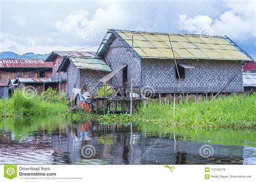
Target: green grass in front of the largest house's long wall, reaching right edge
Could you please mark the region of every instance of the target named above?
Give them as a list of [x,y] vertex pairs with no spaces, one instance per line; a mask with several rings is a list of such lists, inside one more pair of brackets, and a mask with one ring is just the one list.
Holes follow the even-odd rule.
[[230,95],[203,102],[149,103],[132,115],[107,115],[102,122],[147,122],[185,128],[256,128],[256,95]]

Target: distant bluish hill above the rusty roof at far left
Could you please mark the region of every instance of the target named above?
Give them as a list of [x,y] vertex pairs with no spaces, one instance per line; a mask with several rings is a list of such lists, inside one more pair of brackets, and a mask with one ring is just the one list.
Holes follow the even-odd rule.
[[7,51],[7,52],[0,52],[0,59],[43,59],[45,60],[49,56],[49,54],[34,54],[32,52],[27,52],[25,54],[19,55],[19,54],[16,54],[15,52]]

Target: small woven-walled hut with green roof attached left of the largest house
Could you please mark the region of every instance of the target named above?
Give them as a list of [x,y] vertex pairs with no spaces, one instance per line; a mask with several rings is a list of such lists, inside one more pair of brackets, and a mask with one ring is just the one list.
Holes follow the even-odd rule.
[[73,88],[82,89],[95,95],[97,86],[102,84],[99,80],[112,69],[104,59],[95,56],[66,56],[60,64],[57,73],[67,74],[67,97],[70,99]]

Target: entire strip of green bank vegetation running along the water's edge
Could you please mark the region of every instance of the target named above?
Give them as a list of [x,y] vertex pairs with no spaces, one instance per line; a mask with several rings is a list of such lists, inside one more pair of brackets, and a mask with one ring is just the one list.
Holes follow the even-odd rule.
[[230,95],[212,101],[173,104],[147,103],[132,116],[129,114],[85,114],[67,112],[65,95],[51,88],[41,95],[24,96],[22,91],[7,100],[0,101],[3,117],[56,115],[62,118],[98,120],[102,123],[158,123],[169,127],[185,128],[256,128],[256,95]]

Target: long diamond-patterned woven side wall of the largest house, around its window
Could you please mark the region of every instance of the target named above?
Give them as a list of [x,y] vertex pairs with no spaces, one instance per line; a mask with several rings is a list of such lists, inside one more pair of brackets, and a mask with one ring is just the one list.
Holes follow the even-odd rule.
[[[178,63],[195,67],[185,69],[181,82],[176,79],[174,60],[143,59],[144,86],[152,86],[156,92],[219,92],[241,68],[241,61],[179,60]],[[243,92],[242,72],[223,92]]]

